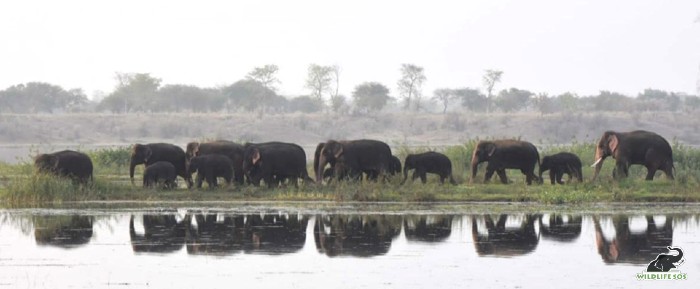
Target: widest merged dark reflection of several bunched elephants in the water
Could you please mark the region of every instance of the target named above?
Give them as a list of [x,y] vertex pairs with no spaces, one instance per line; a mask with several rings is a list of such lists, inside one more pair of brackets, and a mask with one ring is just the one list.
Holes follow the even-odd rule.
[[187,253],[292,253],[304,247],[308,217],[196,214],[187,229]]

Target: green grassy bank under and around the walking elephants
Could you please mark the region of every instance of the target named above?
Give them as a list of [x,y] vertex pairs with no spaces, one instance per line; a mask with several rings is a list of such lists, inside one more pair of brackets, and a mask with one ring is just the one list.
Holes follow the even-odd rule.
[[[596,202],[698,202],[700,201],[700,150],[674,145],[675,181],[666,180],[662,173],[653,182],[644,181],[645,169],[633,166],[630,178],[616,182],[610,177],[614,160],[606,161],[601,177],[591,183],[553,186],[525,185],[520,172],[508,171],[511,183],[483,183],[484,166],[477,178],[469,183],[469,161],[476,140],[450,146],[444,152],[453,163],[457,186],[439,185],[437,178],[429,183],[419,181],[399,185],[402,176],[388,183],[336,183],[329,186],[302,185],[267,189],[250,186],[215,190],[173,191],[143,189],[131,186],[128,180],[128,147],[89,151],[95,165],[95,180],[87,186],[74,185],[69,180],[34,174],[31,163],[0,163],[0,202],[5,207],[34,207],[84,201],[366,201],[366,202],[456,202],[501,201],[538,202],[545,204],[578,204]],[[394,147],[394,153],[403,159],[414,152],[435,148]],[[590,179],[595,147],[593,144],[574,143],[542,149],[541,156],[559,151],[573,152],[584,161],[584,177]],[[142,166],[140,167],[142,169]],[[309,167],[309,171],[312,168]],[[140,173],[137,172],[140,176]],[[546,176],[545,176],[546,179]],[[496,181],[494,179],[493,181]],[[137,180],[139,183],[139,180]]]

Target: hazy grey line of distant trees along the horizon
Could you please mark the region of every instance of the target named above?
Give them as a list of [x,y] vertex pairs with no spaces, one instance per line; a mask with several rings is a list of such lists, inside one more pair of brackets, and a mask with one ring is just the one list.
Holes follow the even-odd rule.
[[613,91],[579,96],[574,93],[549,95],[519,88],[497,90],[503,72],[486,70],[481,87],[438,88],[425,95],[427,81],[423,67],[402,64],[396,83],[396,95],[379,82],[364,82],[354,87],[351,99],[339,93],[341,77],[337,65],[311,64],[308,67],[306,95],[278,94],[279,67],[256,67],[233,84],[202,88],[193,85],[162,85],[149,73],[117,73],[114,91],[89,100],[82,89],[66,90],[43,82],[18,84],[0,90],[0,113],[62,112],[259,112],[312,113],[332,111],[344,114],[375,114],[390,104],[411,111],[446,113],[448,109],[471,112],[520,112],[541,114],[570,111],[697,111],[700,98],[695,95],[658,89],[645,89],[636,96]]

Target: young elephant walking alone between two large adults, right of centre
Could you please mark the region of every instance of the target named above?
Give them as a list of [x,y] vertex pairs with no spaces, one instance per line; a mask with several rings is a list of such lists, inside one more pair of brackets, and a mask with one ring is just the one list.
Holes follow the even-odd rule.
[[450,178],[450,183],[456,185],[452,178],[452,162],[447,156],[438,152],[425,152],[421,154],[410,154],[406,156],[403,167],[403,181],[408,178],[408,170],[415,169],[411,180],[420,177],[421,182],[426,183],[426,173],[440,176],[440,183],[444,184],[446,178]]

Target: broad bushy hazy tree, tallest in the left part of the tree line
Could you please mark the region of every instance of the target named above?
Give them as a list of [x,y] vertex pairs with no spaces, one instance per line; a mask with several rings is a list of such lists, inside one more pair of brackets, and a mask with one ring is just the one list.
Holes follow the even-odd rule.
[[117,73],[117,86],[100,102],[101,109],[113,112],[158,110],[158,88],[161,79],[148,73]]

